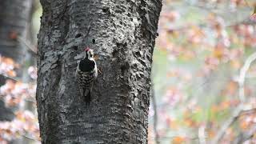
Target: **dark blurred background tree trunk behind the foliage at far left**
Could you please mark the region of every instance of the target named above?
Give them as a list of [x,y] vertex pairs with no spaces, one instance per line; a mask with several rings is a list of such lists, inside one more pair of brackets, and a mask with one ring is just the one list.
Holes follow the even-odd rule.
[[[31,4],[32,0],[0,0],[0,54],[13,58],[20,64],[22,64],[24,49],[18,42],[18,37],[25,36]],[[22,76],[21,71],[18,76]],[[5,81],[6,78],[0,75],[0,86]],[[14,118],[14,114],[10,109],[5,108],[2,101],[0,101],[0,107],[0,120]]]

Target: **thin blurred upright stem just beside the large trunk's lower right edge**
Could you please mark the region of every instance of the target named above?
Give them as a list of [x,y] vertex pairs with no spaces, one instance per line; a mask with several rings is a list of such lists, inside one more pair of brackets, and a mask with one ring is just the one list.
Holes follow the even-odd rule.
[[152,91],[151,91],[151,98],[152,98],[152,104],[153,104],[153,110],[154,110],[154,138],[155,138],[155,143],[159,144],[159,134],[158,134],[158,108],[157,108],[157,102],[154,97],[154,86],[152,86]]

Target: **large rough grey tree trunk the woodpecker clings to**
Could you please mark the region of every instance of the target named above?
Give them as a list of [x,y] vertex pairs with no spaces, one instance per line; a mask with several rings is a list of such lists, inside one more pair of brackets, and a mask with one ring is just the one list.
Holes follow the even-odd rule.
[[[147,143],[150,70],[161,0],[41,0],[42,143]],[[84,47],[102,74],[86,107],[74,78]]]

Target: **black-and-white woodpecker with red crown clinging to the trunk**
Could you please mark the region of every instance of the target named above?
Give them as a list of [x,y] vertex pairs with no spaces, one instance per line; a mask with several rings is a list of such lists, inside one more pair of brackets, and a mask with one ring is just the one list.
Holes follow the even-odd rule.
[[94,60],[94,51],[87,47],[84,50],[84,58],[78,62],[76,78],[79,83],[79,90],[86,104],[90,104],[91,91],[94,80],[98,76],[98,69]]

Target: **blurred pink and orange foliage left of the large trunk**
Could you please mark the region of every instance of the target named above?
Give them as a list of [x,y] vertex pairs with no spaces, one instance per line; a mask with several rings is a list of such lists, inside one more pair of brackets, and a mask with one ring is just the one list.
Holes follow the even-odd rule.
[[35,80],[37,70],[30,66],[27,73],[33,79],[30,83],[24,83],[15,78],[15,70],[20,66],[11,58],[0,56],[0,74],[7,78],[6,83],[0,87],[0,98],[5,102],[6,107],[14,110],[15,118],[8,122],[0,122],[0,143],[5,144],[17,138],[30,138],[38,142],[39,126],[37,115],[34,111],[24,110],[26,102],[35,102]]

